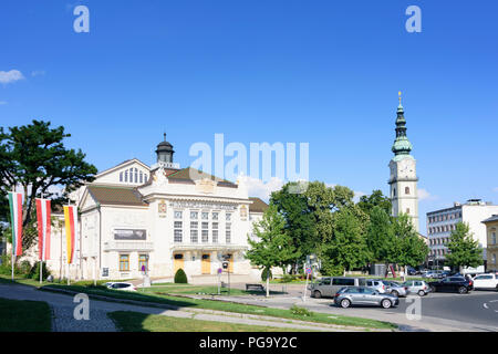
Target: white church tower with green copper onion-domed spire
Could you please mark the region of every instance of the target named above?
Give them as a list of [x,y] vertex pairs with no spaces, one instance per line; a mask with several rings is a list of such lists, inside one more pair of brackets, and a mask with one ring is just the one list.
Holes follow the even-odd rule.
[[396,139],[393,144],[394,157],[390,162],[391,176],[391,201],[393,204],[393,216],[407,214],[412,217],[415,230],[418,232],[418,196],[416,160],[409,155],[412,143],[406,137],[405,112],[401,103],[397,106]]

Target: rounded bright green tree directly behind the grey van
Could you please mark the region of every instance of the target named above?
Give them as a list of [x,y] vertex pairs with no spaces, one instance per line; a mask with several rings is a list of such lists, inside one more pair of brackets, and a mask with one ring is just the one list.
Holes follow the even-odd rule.
[[328,267],[340,266],[351,270],[366,266],[371,258],[361,220],[351,208],[334,214],[334,231],[330,242],[324,246],[322,262]]

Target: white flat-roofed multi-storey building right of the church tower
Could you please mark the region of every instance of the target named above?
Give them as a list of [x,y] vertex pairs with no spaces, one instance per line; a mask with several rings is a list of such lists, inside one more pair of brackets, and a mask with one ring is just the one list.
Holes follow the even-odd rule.
[[458,222],[468,223],[475,240],[483,248],[483,260],[486,260],[487,233],[486,225],[481,221],[498,214],[498,206],[483,202],[478,199],[468,200],[460,205],[455,202],[453,208],[427,212],[427,236],[430,256],[444,260],[448,252],[447,242]]

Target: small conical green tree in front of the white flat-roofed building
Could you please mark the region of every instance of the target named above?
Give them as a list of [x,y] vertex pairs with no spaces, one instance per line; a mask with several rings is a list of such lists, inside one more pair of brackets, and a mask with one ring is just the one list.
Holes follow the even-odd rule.
[[452,231],[448,241],[448,254],[446,260],[453,267],[477,267],[483,264],[483,249],[479,242],[473,238],[467,223],[458,222]]

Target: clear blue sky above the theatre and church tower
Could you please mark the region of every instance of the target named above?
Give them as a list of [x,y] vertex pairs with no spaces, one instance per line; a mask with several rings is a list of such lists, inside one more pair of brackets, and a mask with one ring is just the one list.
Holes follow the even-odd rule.
[[[90,9],[90,33],[73,9]],[[405,9],[422,9],[422,33]],[[0,3],[0,125],[64,125],[98,169],[196,142],[310,144],[310,178],[387,194],[397,92],[425,212],[498,202],[496,1]]]

